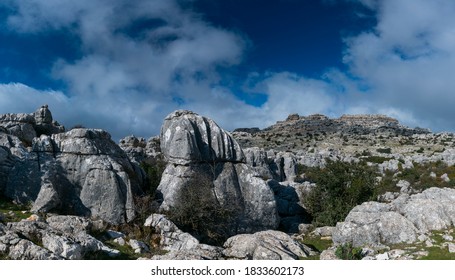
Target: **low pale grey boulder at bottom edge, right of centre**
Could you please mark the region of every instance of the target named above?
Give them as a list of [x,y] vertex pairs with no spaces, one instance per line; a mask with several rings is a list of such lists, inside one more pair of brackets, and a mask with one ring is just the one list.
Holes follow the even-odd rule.
[[229,259],[295,260],[314,252],[281,231],[261,231],[239,234],[224,243],[223,255]]

